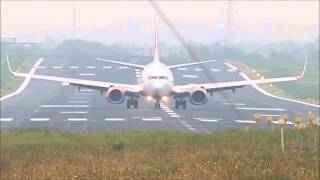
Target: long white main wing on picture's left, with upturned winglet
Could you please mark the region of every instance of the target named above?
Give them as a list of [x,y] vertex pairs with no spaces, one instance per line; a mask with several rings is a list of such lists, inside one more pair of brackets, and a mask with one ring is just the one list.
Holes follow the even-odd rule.
[[61,83],[74,85],[74,86],[78,86],[78,87],[87,87],[87,88],[100,89],[100,90],[107,90],[111,86],[117,86],[117,87],[123,88],[125,91],[128,91],[128,92],[132,92],[132,93],[139,93],[140,92],[140,86],[138,86],[138,85],[119,84],[119,83],[111,83],[111,82],[103,82],[103,81],[73,79],[73,78],[65,78],[65,77],[58,77],[58,76],[47,76],[47,75],[37,75],[37,74],[14,72],[11,69],[8,56],[7,56],[7,63],[8,63],[9,71],[14,76],[17,76],[17,77],[55,81],[55,82],[61,82]]

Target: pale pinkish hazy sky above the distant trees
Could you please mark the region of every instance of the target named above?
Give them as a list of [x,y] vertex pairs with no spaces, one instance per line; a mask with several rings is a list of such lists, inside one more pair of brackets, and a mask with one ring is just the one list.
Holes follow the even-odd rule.
[[[193,22],[202,23],[207,25],[208,32],[226,29],[226,1],[157,3],[173,24],[185,23],[192,27]],[[72,1],[1,1],[1,36],[32,35],[43,38],[54,33],[70,35],[73,27],[72,5]],[[98,29],[126,29],[128,21],[145,24],[140,31],[151,36],[154,10],[150,3],[76,2],[78,34]],[[235,39],[248,35],[271,40],[313,40],[319,35],[319,1],[235,1],[233,22]],[[161,21],[160,26],[163,31],[166,30]],[[187,33],[192,28],[188,30],[186,26],[179,31]]]

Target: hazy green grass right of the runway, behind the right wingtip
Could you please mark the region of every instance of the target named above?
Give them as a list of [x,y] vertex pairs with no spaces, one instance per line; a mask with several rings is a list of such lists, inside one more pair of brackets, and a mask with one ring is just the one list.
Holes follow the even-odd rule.
[[[297,60],[265,60],[265,61],[250,61],[244,62],[249,66],[248,72],[253,69],[265,78],[295,76],[298,75],[303,68],[303,61]],[[251,74],[252,76],[253,74]],[[306,68],[305,76],[297,82],[285,82],[273,84],[272,88],[265,89],[270,92],[283,96],[293,97],[296,99],[304,99],[319,102],[319,60],[310,59]],[[257,77],[255,77],[257,78]]]

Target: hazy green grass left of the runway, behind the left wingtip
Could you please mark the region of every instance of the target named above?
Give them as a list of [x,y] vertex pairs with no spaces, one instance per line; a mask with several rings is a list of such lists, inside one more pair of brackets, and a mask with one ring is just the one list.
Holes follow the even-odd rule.
[[[10,57],[10,64],[14,70],[28,72],[37,58]],[[15,91],[23,82],[23,78],[14,77],[8,70],[5,56],[1,57],[1,96]]]

